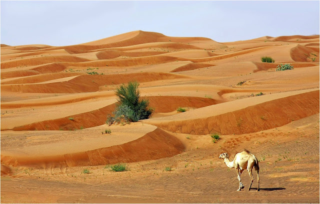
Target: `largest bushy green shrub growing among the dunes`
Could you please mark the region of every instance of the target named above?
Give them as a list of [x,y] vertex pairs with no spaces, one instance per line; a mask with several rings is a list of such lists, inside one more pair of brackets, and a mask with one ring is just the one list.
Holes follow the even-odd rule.
[[115,90],[117,96],[117,106],[112,112],[113,117],[107,117],[106,123],[112,122],[136,122],[139,119],[147,119],[152,114],[153,109],[149,108],[149,101],[139,100],[140,92],[137,89],[139,83],[130,81],[127,85],[120,85]]

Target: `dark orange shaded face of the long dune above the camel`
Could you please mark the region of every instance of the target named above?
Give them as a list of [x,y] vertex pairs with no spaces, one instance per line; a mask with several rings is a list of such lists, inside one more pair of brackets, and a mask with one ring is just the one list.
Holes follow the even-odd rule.
[[318,112],[319,90],[315,90],[214,116],[174,121],[152,121],[151,119],[148,123],[171,132],[188,134],[208,134],[210,132],[243,134],[278,127]]

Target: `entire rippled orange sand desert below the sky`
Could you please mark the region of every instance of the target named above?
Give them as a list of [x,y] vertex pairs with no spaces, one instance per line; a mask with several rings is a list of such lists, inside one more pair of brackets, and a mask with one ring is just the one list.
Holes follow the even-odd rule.
[[[1,44],[0,74],[1,203],[319,203],[319,35],[216,42],[138,30]],[[154,113],[108,126],[114,89],[130,80]],[[236,191],[218,158],[244,149],[259,160],[259,192],[256,179],[246,190],[246,171]]]

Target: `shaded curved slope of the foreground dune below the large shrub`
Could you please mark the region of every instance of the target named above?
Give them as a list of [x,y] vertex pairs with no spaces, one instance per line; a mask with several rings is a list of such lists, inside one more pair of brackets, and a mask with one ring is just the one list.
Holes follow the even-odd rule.
[[[70,144],[71,145],[71,144]],[[156,128],[144,136],[120,145],[83,152],[52,156],[9,156],[1,154],[1,163],[13,166],[55,168],[66,166],[102,165],[159,159],[181,153],[183,144],[176,137]]]

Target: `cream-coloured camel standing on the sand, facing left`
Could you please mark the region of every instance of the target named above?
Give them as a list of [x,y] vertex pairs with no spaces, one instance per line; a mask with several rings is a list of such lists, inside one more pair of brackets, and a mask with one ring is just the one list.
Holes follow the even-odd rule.
[[254,169],[256,172],[256,177],[258,180],[258,188],[256,191],[260,190],[260,188],[259,188],[259,184],[260,184],[259,163],[258,163],[258,160],[256,159],[256,157],[252,153],[250,153],[248,150],[244,150],[242,152],[239,152],[239,153],[235,154],[233,161],[229,161],[228,153],[221,153],[219,155],[219,158],[224,159],[224,163],[226,164],[227,167],[235,168],[236,173],[238,175],[237,177],[239,180],[239,189],[237,189],[237,190],[241,190],[244,188],[244,185],[242,184],[241,178],[240,178],[240,175],[244,169],[246,169],[248,171],[249,176],[251,178],[251,183],[248,188],[248,190],[250,190],[252,182],[254,180],[253,175],[252,175],[252,168],[254,166]]

